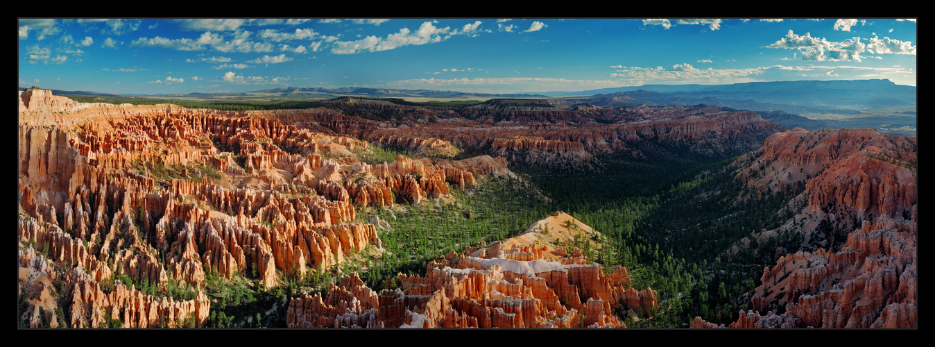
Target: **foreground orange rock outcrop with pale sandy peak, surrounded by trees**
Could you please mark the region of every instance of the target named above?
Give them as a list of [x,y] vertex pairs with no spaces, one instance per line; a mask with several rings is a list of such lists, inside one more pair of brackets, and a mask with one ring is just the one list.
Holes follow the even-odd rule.
[[[605,274],[580,253],[537,245],[535,226],[568,220],[556,213],[530,226],[525,237],[497,242],[474,256],[449,253],[428,264],[424,276],[399,274],[381,293],[352,274],[324,296],[295,298],[287,324],[321,327],[626,327],[620,311],[652,314],[652,288],[637,291],[624,267]],[[587,225],[575,230],[590,230]],[[568,232],[568,228],[564,231]],[[509,245],[509,246],[508,246]]]

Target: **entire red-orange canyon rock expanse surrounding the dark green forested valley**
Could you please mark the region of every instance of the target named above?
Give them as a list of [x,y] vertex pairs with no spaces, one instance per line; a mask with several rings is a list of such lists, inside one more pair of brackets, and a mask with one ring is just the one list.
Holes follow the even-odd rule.
[[[740,201],[800,192],[784,207],[794,217],[759,235],[803,240],[777,252],[756,279],[752,310],[730,327],[915,327],[915,137],[786,130],[754,112],[703,105],[324,104],[221,111],[20,91],[21,326],[215,326],[229,303],[213,283],[273,293],[329,274],[337,281],[277,296],[284,304],[271,311],[284,323],[273,327],[653,321],[670,310],[669,297],[644,272],[598,261],[595,253],[630,246],[575,211],[459,243],[418,271],[378,282],[367,271],[388,253],[401,256],[386,246],[397,214],[464,210],[459,199],[494,181],[531,184],[511,167],[599,175],[609,173],[607,158],[673,155],[739,156],[728,168],[744,186]],[[690,326],[724,325],[696,317]]]

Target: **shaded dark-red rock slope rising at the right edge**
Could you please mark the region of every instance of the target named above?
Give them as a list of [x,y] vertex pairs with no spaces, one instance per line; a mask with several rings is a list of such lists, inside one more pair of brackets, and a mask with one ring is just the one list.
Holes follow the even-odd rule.
[[816,249],[764,268],[754,309],[729,327],[915,327],[916,160],[915,137],[870,129],[793,129],[741,157],[755,194],[804,185],[781,228]]

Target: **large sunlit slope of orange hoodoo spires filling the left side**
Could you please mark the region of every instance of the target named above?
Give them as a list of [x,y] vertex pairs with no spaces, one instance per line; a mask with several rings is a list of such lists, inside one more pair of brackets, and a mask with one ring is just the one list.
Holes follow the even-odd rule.
[[[285,125],[289,111],[83,104],[43,90],[20,92],[19,103],[20,250],[49,255],[21,267],[62,268],[67,299],[58,302],[69,312],[55,316],[54,302],[39,310],[50,302],[48,279],[27,276],[30,325],[43,316],[72,327],[203,325],[209,274],[271,287],[285,274],[379,253],[377,228],[358,209],[513,175],[489,156],[368,165],[354,154],[367,142]],[[145,295],[115,281],[123,276],[195,297]]]

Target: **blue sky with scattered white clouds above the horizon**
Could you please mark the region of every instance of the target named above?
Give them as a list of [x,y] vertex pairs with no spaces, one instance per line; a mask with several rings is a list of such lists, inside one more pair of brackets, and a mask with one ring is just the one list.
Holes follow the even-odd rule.
[[20,19],[19,85],[114,94],[914,86],[916,32],[915,20],[894,19]]

